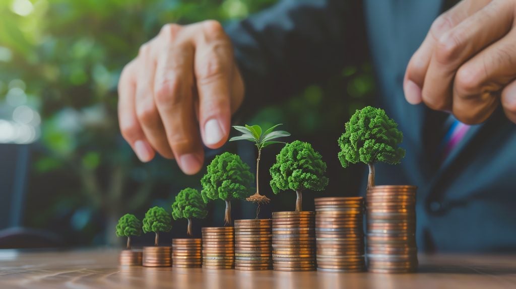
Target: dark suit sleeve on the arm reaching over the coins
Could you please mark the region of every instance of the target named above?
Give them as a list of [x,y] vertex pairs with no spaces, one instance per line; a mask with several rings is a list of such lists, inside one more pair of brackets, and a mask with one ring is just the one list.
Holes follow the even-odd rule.
[[353,55],[345,40],[363,31],[362,10],[352,4],[359,2],[285,0],[225,27],[246,84],[244,106],[277,101],[342,69]]

